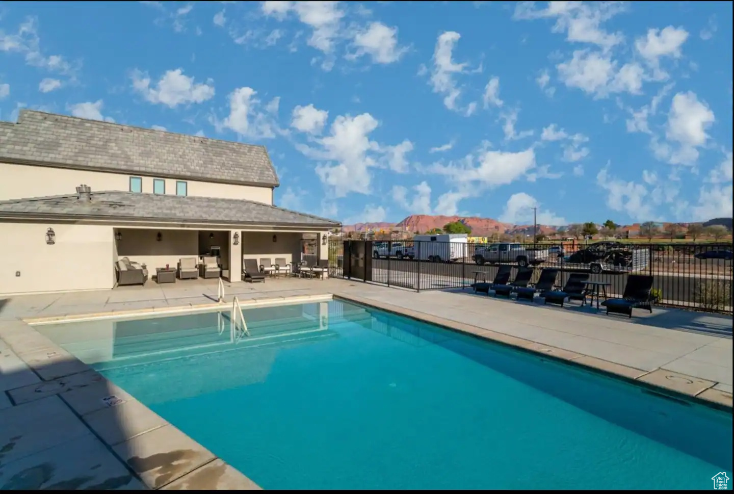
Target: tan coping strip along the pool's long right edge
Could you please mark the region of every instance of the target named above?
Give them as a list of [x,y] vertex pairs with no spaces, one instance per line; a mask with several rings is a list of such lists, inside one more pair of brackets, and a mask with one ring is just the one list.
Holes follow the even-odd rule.
[[[495,330],[488,330],[483,327],[474,326],[473,324],[467,324],[464,322],[453,321],[440,316],[432,316],[431,314],[421,313],[417,310],[400,307],[399,305],[392,305],[385,302],[380,302],[374,299],[368,299],[365,297],[359,297],[357,295],[346,294],[344,292],[336,292],[333,294],[334,299],[344,299],[347,302],[356,302],[357,304],[367,305],[368,307],[377,308],[379,310],[385,310],[386,312],[396,314],[398,316],[404,316],[409,319],[414,319],[418,322],[425,322],[428,324],[435,324],[440,327],[445,327],[447,330],[454,331],[455,333],[461,333],[468,335],[473,338],[479,338],[480,340],[492,341],[495,344],[501,344],[508,346],[512,349],[520,352],[530,353],[532,355],[541,355],[542,357],[549,357],[552,360],[556,360],[561,363],[570,364],[577,368],[583,368],[586,371],[593,372],[595,374],[601,374],[606,377],[614,379],[621,379],[629,384],[637,385],[655,393],[660,393],[666,397],[673,399],[680,399],[686,402],[694,402],[701,404],[705,407],[713,408],[727,413],[733,413],[732,407],[732,393],[722,391],[713,388],[717,382],[713,382],[711,386],[697,391],[696,393],[686,393],[686,391],[680,391],[675,388],[666,388],[663,385],[658,385],[654,382],[643,380],[643,377],[649,377],[650,374],[665,371],[668,374],[684,377],[686,379],[695,379],[698,381],[712,382],[709,379],[702,379],[700,377],[688,376],[681,374],[680,372],[669,371],[663,368],[655,368],[652,371],[645,371],[644,369],[634,368],[625,366],[620,363],[611,362],[609,360],[603,360],[599,357],[593,357],[592,355],[584,355],[578,352],[572,352],[562,348],[557,348],[552,345],[545,345],[537,343],[536,341],[526,340],[517,336],[506,335],[505,333],[499,333]],[[584,359],[582,362],[577,360]],[[595,365],[592,365],[595,363]],[[613,369],[617,369],[615,371]],[[710,393],[714,391],[715,393]],[[717,401],[711,394],[719,393],[720,395],[729,398],[728,404],[722,401]]]

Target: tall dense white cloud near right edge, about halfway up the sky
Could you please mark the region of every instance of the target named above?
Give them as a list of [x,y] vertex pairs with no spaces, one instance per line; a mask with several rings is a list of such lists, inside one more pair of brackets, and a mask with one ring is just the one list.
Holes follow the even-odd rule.
[[715,117],[713,111],[698,100],[696,93],[678,92],[668,112],[665,137],[675,146],[653,142],[658,158],[670,164],[695,164],[700,148],[708,141],[706,129],[711,127]]

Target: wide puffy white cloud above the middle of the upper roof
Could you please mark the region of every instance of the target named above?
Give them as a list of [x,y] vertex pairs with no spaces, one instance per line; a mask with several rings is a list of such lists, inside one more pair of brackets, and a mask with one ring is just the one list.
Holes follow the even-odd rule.
[[135,70],[132,75],[133,88],[145,101],[161,103],[169,108],[187,103],[203,103],[214,97],[214,81],[195,82],[193,77],[183,75],[183,70],[167,70],[155,87],[150,87],[150,77]]

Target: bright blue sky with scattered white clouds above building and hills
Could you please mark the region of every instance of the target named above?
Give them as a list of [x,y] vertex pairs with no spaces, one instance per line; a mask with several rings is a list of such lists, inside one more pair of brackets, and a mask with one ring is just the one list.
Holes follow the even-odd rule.
[[6,2],[28,107],[264,144],[345,223],[732,215],[731,2]]

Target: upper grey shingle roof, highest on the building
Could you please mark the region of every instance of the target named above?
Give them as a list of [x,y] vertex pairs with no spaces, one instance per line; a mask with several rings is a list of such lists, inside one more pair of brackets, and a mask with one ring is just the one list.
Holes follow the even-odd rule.
[[0,126],[0,161],[278,186],[264,146],[22,109]]

